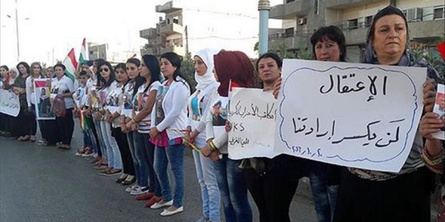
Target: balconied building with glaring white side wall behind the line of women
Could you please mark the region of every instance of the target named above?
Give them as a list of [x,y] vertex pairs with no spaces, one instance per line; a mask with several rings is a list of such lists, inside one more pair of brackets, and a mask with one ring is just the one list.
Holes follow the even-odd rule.
[[187,52],[193,55],[202,48],[214,47],[241,50],[250,57],[256,57],[256,3],[251,9],[243,9],[233,7],[236,2],[227,0],[225,4],[217,4],[206,0],[173,0],[156,6],[156,12],[161,13],[156,28],[140,30],[140,36],[148,40],[141,47],[141,54],[160,55],[173,51],[184,56]]

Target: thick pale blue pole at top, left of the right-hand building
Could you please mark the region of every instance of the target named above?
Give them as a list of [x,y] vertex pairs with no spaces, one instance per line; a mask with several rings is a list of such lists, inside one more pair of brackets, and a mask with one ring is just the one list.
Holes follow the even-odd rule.
[[258,1],[259,11],[259,55],[268,52],[268,38],[269,38],[269,11],[271,4],[269,0]]

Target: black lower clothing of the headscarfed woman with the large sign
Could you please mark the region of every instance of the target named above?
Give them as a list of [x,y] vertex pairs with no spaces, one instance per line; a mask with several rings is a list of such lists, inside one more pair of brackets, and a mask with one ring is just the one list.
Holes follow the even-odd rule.
[[370,181],[343,169],[334,221],[429,222],[428,169],[385,181]]

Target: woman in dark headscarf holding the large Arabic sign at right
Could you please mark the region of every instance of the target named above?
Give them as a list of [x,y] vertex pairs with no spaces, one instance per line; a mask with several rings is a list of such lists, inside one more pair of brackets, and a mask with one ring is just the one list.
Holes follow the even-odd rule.
[[[374,16],[369,29],[364,63],[426,67],[428,79],[440,80],[425,60],[413,57],[409,39],[404,13],[392,6],[382,9]],[[430,97],[435,94],[433,81],[427,80],[423,93],[424,112],[431,112],[434,102],[431,104]],[[443,147],[423,149],[423,146],[418,132],[408,159],[398,173],[344,169],[334,221],[430,221],[432,184],[425,164],[441,167],[444,152]]]

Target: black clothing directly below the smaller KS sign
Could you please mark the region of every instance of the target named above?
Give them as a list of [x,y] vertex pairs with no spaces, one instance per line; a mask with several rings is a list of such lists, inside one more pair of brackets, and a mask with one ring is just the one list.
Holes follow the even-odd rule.
[[283,154],[268,159],[265,164],[260,172],[244,170],[247,188],[259,211],[259,221],[288,222],[289,207],[301,178],[300,158]]

